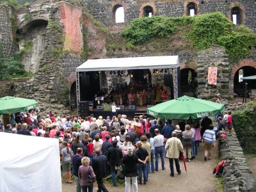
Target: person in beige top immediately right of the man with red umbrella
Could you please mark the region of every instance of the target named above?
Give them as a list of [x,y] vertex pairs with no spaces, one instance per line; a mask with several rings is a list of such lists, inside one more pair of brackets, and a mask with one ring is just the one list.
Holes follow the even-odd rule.
[[[188,161],[191,161],[191,138],[192,138],[192,132],[190,131],[190,126],[185,125],[185,131],[182,132],[182,145],[184,148],[184,157],[185,159],[188,159]],[[188,153],[188,157],[187,154]]]

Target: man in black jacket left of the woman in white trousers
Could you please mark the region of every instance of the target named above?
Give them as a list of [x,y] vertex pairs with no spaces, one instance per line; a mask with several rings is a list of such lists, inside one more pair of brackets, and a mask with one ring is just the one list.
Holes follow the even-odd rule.
[[123,153],[120,148],[118,148],[117,141],[113,141],[113,147],[110,147],[108,150],[108,162],[110,165],[110,170],[111,170],[111,177],[113,181],[113,186],[117,186],[116,184],[116,177],[115,177],[115,166],[120,166],[122,164],[122,158],[123,158]]

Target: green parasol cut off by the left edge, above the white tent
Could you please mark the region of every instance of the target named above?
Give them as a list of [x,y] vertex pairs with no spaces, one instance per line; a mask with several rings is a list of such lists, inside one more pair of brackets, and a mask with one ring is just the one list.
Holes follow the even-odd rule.
[[33,99],[10,96],[0,98],[0,114],[17,113],[36,107],[38,107],[38,102]]

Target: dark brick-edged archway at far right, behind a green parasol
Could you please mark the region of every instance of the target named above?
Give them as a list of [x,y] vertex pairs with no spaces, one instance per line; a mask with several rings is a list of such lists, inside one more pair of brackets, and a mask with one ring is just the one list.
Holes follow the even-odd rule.
[[[239,97],[243,97],[244,95],[244,82],[240,80],[241,77],[255,76],[256,68],[250,66],[244,66],[239,68],[234,76],[234,93]],[[247,90],[248,93],[250,90],[256,89],[255,81],[248,81]]]

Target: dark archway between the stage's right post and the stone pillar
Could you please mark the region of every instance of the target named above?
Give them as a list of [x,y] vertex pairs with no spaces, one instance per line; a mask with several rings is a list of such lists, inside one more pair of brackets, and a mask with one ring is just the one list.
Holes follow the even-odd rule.
[[196,97],[197,74],[192,68],[180,70],[180,85],[182,95]]

